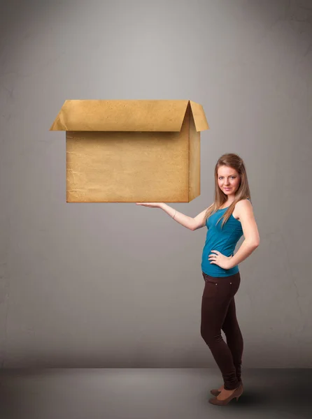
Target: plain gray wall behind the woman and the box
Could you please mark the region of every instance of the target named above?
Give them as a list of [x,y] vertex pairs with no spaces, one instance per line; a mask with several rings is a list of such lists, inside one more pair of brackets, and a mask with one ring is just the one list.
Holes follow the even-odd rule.
[[[245,161],[260,247],[240,264],[244,367],[312,367],[312,2],[1,3],[1,367],[215,367],[201,251],[159,209],[66,203],[66,99],[204,106],[201,196]],[[242,240],[239,242],[236,251]]]

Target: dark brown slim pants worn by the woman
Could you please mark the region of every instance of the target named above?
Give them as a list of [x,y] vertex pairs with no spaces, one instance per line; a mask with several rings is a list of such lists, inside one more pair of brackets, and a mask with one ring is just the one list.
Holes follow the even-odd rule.
[[[236,318],[234,295],[241,283],[240,273],[230,277],[209,277],[202,272],[205,288],[201,300],[201,337],[221,371],[225,390],[241,383],[243,337]],[[222,339],[225,332],[227,343]]]

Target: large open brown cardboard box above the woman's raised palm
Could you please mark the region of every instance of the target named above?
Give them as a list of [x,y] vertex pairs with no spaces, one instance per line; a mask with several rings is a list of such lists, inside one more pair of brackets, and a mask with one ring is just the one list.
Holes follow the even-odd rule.
[[66,131],[66,202],[189,203],[208,128],[192,101],[65,101],[50,131]]

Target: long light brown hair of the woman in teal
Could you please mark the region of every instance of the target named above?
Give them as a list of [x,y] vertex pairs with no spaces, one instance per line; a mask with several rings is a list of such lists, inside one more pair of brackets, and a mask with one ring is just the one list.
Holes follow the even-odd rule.
[[[218,219],[218,222],[221,219],[223,219],[222,226],[221,226],[222,228],[224,224],[227,222],[227,220],[229,219],[229,217],[232,215],[236,203],[238,203],[239,200],[242,200],[242,199],[247,199],[247,198],[250,199],[250,190],[249,190],[249,185],[248,185],[248,178],[247,178],[245,163],[243,162],[243,159],[241,159],[241,157],[239,157],[237,154],[233,154],[233,153],[223,154],[220,157],[220,159],[218,159],[217,163],[215,164],[215,202],[210,207],[208,207],[205,217],[204,217],[204,223],[206,223],[206,220],[208,219],[209,216],[211,216],[211,214],[218,211],[219,208],[222,207],[222,205],[227,201],[227,196],[225,195],[223,191],[221,191],[218,185],[218,168],[220,168],[220,166],[227,166],[227,167],[235,169],[236,172],[239,173],[239,177],[240,177],[239,189],[237,189],[235,193],[235,198],[234,198],[233,203],[229,205],[225,213],[220,217],[220,219]],[[250,202],[251,202],[251,199],[250,199]]]

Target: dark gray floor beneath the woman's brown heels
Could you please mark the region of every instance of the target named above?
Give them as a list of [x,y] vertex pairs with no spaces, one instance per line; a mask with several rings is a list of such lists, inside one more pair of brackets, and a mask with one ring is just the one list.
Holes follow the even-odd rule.
[[312,369],[248,369],[213,406],[217,369],[1,369],[1,419],[312,418]]

